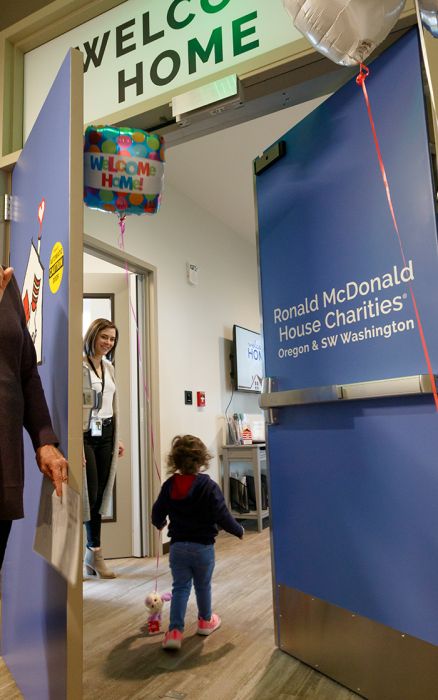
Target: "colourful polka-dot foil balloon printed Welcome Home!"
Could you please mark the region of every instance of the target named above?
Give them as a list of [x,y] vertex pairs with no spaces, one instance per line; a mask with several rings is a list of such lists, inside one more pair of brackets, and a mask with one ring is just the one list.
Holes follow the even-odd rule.
[[89,126],[84,138],[84,202],[91,209],[155,214],[164,175],[164,140],[141,129]]

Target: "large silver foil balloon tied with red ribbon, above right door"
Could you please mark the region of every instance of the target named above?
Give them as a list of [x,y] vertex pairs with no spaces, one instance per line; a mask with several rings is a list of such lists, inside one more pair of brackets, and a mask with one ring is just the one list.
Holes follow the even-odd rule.
[[298,31],[343,66],[365,61],[389,34],[404,4],[405,0],[283,0]]

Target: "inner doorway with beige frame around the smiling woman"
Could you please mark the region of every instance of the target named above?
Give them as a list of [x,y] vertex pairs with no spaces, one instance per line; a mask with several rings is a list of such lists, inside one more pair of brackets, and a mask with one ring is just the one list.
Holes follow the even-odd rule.
[[83,332],[99,317],[113,321],[119,330],[114,366],[125,453],[117,465],[110,512],[102,520],[102,549],[108,559],[144,557],[153,553],[148,526],[153,480],[148,394],[153,340],[148,317],[153,312],[148,290],[154,271],[104,247],[100,241],[84,246]]

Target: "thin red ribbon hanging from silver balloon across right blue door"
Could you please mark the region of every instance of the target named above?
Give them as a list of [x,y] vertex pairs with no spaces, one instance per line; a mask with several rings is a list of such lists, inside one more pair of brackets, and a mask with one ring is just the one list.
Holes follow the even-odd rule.
[[[367,107],[368,117],[369,117],[370,124],[371,124],[371,131],[372,131],[372,133],[373,133],[374,144],[375,144],[375,146],[376,146],[377,158],[378,158],[378,160],[379,160],[380,172],[381,172],[381,174],[382,174],[383,185],[384,185],[385,191],[386,191],[386,199],[388,200],[388,206],[389,206],[389,210],[390,210],[390,212],[391,212],[392,222],[393,222],[393,224],[394,224],[394,229],[395,229],[395,232],[396,232],[396,234],[397,234],[397,239],[398,239],[398,243],[399,243],[399,246],[400,246],[400,252],[401,252],[403,264],[404,264],[404,266],[406,267],[406,266],[407,266],[407,265],[406,265],[406,256],[405,256],[405,253],[404,253],[404,250],[403,250],[403,243],[402,243],[402,240],[401,240],[401,236],[400,236],[400,232],[399,232],[398,224],[397,224],[397,219],[396,219],[395,212],[394,212],[394,207],[393,207],[393,204],[392,204],[391,190],[390,190],[390,188],[389,188],[388,178],[387,178],[387,176],[386,176],[386,170],[385,170],[385,165],[384,165],[384,163],[383,163],[382,152],[381,152],[381,150],[380,150],[379,139],[377,138],[377,132],[376,132],[375,124],[374,124],[374,119],[373,119],[373,113],[372,113],[372,110],[371,110],[370,100],[369,100],[368,92],[367,92],[367,89],[366,89],[366,86],[365,86],[365,80],[366,80],[367,77],[369,76],[369,73],[370,73],[369,68],[367,68],[367,66],[365,66],[363,63],[361,63],[361,64],[360,64],[360,69],[359,69],[359,75],[358,75],[357,78],[356,78],[356,83],[362,88],[362,92],[363,92],[363,95],[364,95],[364,98],[365,98],[365,104],[366,104],[366,107]],[[419,334],[420,334],[421,345],[423,346],[423,353],[424,353],[424,357],[425,357],[425,360],[426,360],[426,365],[427,365],[427,371],[428,371],[428,374],[429,374],[430,384],[431,384],[431,387],[432,387],[433,398],[434,398],[434,401],[435,401],[435,408],[436,408],[436,410],[438,411],[438,395],[437,395],[437,389],[436,389],[436,384],[435,384],[435,376],[434,376],[434,373],[433,373],[433,370],[432,370],[432,365],[431,365],[431,362],[430,362],[429,351],[428,351],[428,349],[427,349],[426,338],[425,338],[425,336],[424,336],[423,324],[421,323],[420,313],[419,313],[419,311],[418,311],[418,306],[417,306],[417,301],[416,301],[416,299],[415,299],[414,290],[412,289],[412,284],[411,284],[410,282],[409,282],[409,292],[410,292],[410,294],[411,294],[412,304],[413,304],[414,311],[415,311],[415,316],[416,316],[416,319],[417,319],[418,332],[419,332]]]

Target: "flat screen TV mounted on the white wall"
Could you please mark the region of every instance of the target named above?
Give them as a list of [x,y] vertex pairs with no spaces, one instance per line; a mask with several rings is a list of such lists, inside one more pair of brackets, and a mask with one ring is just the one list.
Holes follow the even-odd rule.
[[260,393],[263,377],[262,336],[241,326],[233,326],[233,376],[237,391]]

